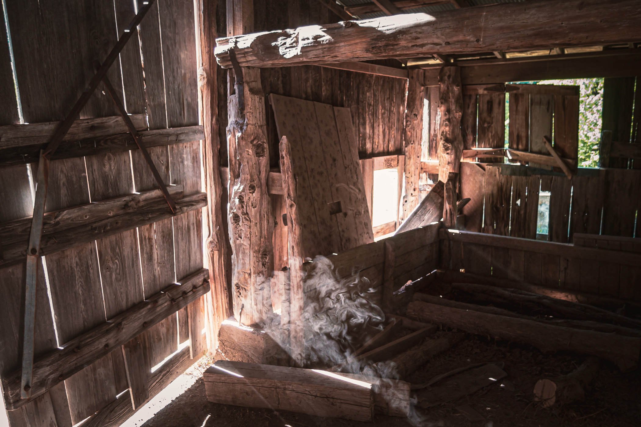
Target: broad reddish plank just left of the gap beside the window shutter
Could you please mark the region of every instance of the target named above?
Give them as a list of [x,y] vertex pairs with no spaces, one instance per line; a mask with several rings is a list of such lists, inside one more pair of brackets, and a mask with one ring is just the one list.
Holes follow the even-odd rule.
[[[481,93],[478,106],[478,147],[500,149],[505,145],[505,93]],[[503,163],[488,157],[487,163]]]

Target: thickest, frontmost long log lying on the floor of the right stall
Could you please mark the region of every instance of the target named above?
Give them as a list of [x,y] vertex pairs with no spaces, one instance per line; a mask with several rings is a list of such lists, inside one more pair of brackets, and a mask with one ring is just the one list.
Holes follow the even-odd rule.
[[638,337],[546,325],[528,319],[454,309],[420,301],[410,303],[407,311],[410,318],[442,323],[471,334],[524,342],[544,353],[567,350],[601,357],[610,360],[624,372],[635,369],[641,350],[641,339]]

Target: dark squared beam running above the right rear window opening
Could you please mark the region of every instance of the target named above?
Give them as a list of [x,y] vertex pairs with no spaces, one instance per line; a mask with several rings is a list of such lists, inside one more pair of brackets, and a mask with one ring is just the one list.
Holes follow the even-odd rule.
[[[525,3],[523,3],[525,4]],[[592,77],[637,76],[641,68],[641,49],[529,56],[504,60],[457,61],[463,85],[491,85],[506,81],[547,79],[584,79]],[[424,68],[424,85],[438,85],[437,67]]]

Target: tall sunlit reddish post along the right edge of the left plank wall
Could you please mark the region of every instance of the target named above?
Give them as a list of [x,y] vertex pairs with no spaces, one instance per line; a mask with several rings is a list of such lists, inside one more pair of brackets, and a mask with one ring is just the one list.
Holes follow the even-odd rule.
[[225,271],[225,260],[230,254],[227,250],[224,233],[221,195],[222,182],[220,172],[219,149],[221,141],[218,128],[218,90],[217,63],[212,54],[216,40],[216,1],[198,0],[197,17],[201,47],[201,63],[198,70],[200,88],[201,123],[204,127],[203,168],[207,192],[207,226],[206,255],[209,267],[209,281],[212,291],[205,296],[205,313],[207,318],[207,335],[209,348],[217,347],[218,330],[224,319],[229,316],[228,277]]

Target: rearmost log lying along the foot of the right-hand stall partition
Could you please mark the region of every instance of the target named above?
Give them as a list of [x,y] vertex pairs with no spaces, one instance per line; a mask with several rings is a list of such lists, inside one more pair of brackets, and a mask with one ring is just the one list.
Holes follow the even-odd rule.
[[[594,305],[606,310],[618,310],[624,305],[629,304],[629,301],[624,301],[612,296],[597,295],[578,291],[569,291],[567,289],[551,289],[545,286],[533,285],[526,282],[517,282],[506,278],[497,278],[473,273],[461,273],[460,271],[453,270],[438,270],[438,276],[445,283],[477,283],[481,285],[504,287],[508,289],[520,289],[521,291],[531,292],[538,295],[549,296],[557,300],[565,300],[571,302],[579,302],[582,304]],[[634,305],[636,310],[641,311],[640,305]]]

